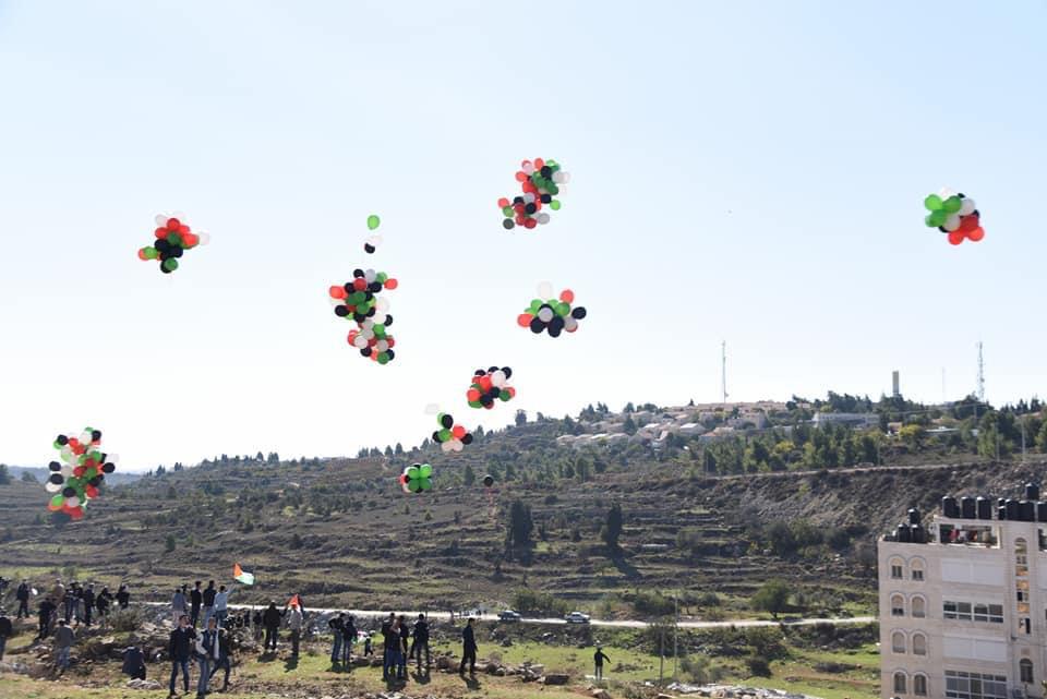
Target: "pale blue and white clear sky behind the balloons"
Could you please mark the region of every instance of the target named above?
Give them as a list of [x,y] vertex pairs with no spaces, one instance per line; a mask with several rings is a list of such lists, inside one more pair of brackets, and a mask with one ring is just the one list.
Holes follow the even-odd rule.
[[[0,0],[0,460],[418,444],[438,402],[1044,395],[1047,5]],[[507,232],[524,158],[573,176]],[[975,197],[950,246],[923,197]],[[136,250],[213,234],[168,277]],[[361,249],[370,213],[385,245]],[[400,279],[378,366],[326,299]],[[535,285],[589,317],[515,324]],[[519,391],[465,406],[478,366]]]

